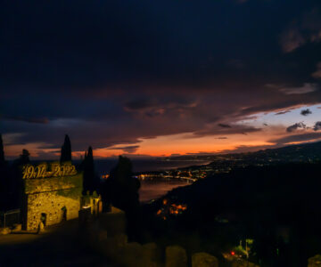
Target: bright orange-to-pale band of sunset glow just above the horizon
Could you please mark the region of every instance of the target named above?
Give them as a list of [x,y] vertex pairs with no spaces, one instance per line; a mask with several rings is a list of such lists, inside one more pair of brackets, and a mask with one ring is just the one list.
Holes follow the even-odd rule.
[[[153,138],[138,138],[137,142],[119,143],[108,148],[94,149],[95,157],[109,158],[118,155],[126,154],[130,157],[168,157],[171,155],[189,155],[189,154],[217,154],[231,153],[234,151],[246,152],[254,150],[263,150],[282,146],[278,140],[282,138],[299,136],[300,134],[312,134],[308,140],[284,142],[284,144],[299,144],[301,142],[315,142],[318,140],[315,131],[312,129],[313,121],[321,115],[321,110],[318,106],[311,106],[314,110],[313,116],[306,119],[307,124],[310,124],[306,129],[298,129],[294,133],[286,132],[287,125],[294,124],[295,113],[300,112],[302,107],[292,109],[292,114],[275,115],[277,112],[268,112],[258,114],[253,118],[239,121],[238,124],[246,124],[246,127],[257,129],[251,133],[229,134],[226,129],[223,129],[221,134],[210,134],[199,136],[200,134],[185,133],[185,134],[169,134],[161,135]],[[279,112],[279,111],[278,111]],[[284,119],[288,124],[284,124]],[[214,125],[215,126],[215,125]],[[236,125],[237,126],[237,125]],[[231,126],[232,128],[232,126]],[[228,128],[229,129],[229,128]],[[245,128],[246,129],[246,128]],[[222,132],[218,129],[218,133]],[[5,140],[5,136],[4,136]],[[46,143],[29,143],[28,149],[33,157],[46,155],[53,157],[59,155],[59,149],[46,149]],[[5,148],[5,152],[9,157],[18,155],[22,148],[26,145],[13,144]],[[74,151],[74,157],[80,158],[83,156],[82,151]]]

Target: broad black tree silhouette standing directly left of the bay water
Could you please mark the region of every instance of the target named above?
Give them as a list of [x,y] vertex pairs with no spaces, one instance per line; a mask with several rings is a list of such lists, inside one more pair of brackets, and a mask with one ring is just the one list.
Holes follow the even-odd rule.
[[128,218],[128,238],[140,238],[140,182],[133,177],[133,166],[129,158],[119,156],[117,166],[111,170],[110,177],[103,183],[104,203],[111,203],[125,211]]

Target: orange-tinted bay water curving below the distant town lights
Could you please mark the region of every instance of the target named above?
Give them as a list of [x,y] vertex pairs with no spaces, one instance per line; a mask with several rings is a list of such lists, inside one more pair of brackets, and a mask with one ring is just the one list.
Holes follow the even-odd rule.
[[188,183],[141,181],[141,188],[139,190],[139,200],[142,203],[145,203],[155,198],[161,198],[161,196],[164,196],[168,191],[185,185],[188,185]]

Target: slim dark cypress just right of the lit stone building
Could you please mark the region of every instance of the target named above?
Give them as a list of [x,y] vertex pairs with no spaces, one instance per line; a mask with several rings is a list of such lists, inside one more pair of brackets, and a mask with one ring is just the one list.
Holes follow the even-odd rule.
[[81,168],[84,172],[83,195],[86,195],[87,191],[89,191],[90,194],[93,194],[94,191],[99,190],[99,177],[95,174],[92,147],[89,147],[85,152],[85,158],[81,164]]

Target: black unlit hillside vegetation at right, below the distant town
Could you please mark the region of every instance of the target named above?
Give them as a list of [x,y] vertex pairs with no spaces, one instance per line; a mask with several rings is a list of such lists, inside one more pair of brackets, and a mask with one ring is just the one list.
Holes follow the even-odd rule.
[[[221,253],[251,239],[251,262],[307,266],[321,251],[320,171],[320,163],[285,164],[214,175],[144,206],[145,227],[154,239],[184,237],[187,249],[221,260]],[[172,214],[166,207],[172,204],[187,208]]]

